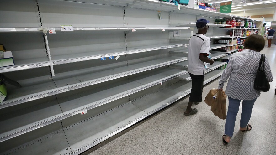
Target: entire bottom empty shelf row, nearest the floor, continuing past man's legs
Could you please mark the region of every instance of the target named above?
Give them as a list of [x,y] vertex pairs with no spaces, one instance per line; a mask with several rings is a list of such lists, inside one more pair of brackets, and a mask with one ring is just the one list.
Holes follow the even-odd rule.
[[[214,70],[205,76],[204,84],[219,77],[223,70]],[[173,85],[157,90],[146,96],[125,103],[117,108],[106,111],[90,119],[81,121],[63,130],[35,139],[19,147],[15,147],[4,154],[79,154],[98,143],[112,137],[116,133],[141,121],[154,112],[172,104],[190,93],[192,82],[179,81]],[[88,111],[89,112],[89,111]],[[105,123],[103,123],[105,122]],[[85,134],[83,134],[85,133]],[[55,141],[51,135],[58,135],[59,141]],[[65,137],[66,135],[66,137]],[[40,143],[35,143],[40,140]],[[69,146],[61,146],[59,142],[67,140]],[[47,145],[51,152],[38,149],[37,145]],[[68,144],[63,143],[63,144]],[[23,147],[24,146],[24,147]],[[30,152],[30,150],[32,152]],[[71,152],[72,151],[72,152]]]

